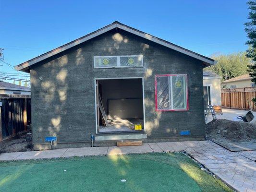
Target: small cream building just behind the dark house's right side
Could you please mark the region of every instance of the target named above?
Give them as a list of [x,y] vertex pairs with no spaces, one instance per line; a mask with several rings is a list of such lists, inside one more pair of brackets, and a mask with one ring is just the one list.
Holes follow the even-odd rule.
[[208,105],[221,106],[220,77],[212,71],[203,71],[204,78],[204,107]]

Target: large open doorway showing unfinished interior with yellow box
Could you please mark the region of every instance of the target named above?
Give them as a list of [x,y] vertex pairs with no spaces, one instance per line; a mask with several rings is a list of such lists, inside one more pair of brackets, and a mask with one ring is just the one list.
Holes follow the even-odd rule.
[[98,132],[144,131],[143,80],[96,80]]

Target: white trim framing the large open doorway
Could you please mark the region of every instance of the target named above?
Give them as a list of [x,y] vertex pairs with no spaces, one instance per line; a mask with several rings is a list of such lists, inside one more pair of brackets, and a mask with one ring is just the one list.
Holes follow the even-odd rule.
[[[143,123],[144,123],[144,132],[146,132],[146,120],[145,120],[145,95],[144,95],[144,77],[110,77],[110,78],[94,78],[94,95],[95,95],[95,128],[96,134],[98,134],[98,118],[97,118],[97,92],[96,92],[96,81],[97,80],[109,80],[109,79],[142,79],[142,99],[143,99]],[[102,132],[100,132],[102,133]],[[112,132],[111,134],[116,134],[116,132]]]

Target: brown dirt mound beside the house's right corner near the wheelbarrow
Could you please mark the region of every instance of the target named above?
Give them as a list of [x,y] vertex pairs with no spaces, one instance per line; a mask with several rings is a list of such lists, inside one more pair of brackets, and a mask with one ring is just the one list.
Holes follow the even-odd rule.
[[232,141],[250,141],[256,139],[256,124],[217,119],[206,125],[209,138],[225,138]]

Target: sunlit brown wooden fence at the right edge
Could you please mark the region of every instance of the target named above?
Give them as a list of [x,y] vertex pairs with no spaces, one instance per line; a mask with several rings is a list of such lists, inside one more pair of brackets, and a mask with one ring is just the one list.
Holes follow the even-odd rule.
[[256,97],[256,87],[221,89],[221,106],[247,110],[256,106],[252,99]]

